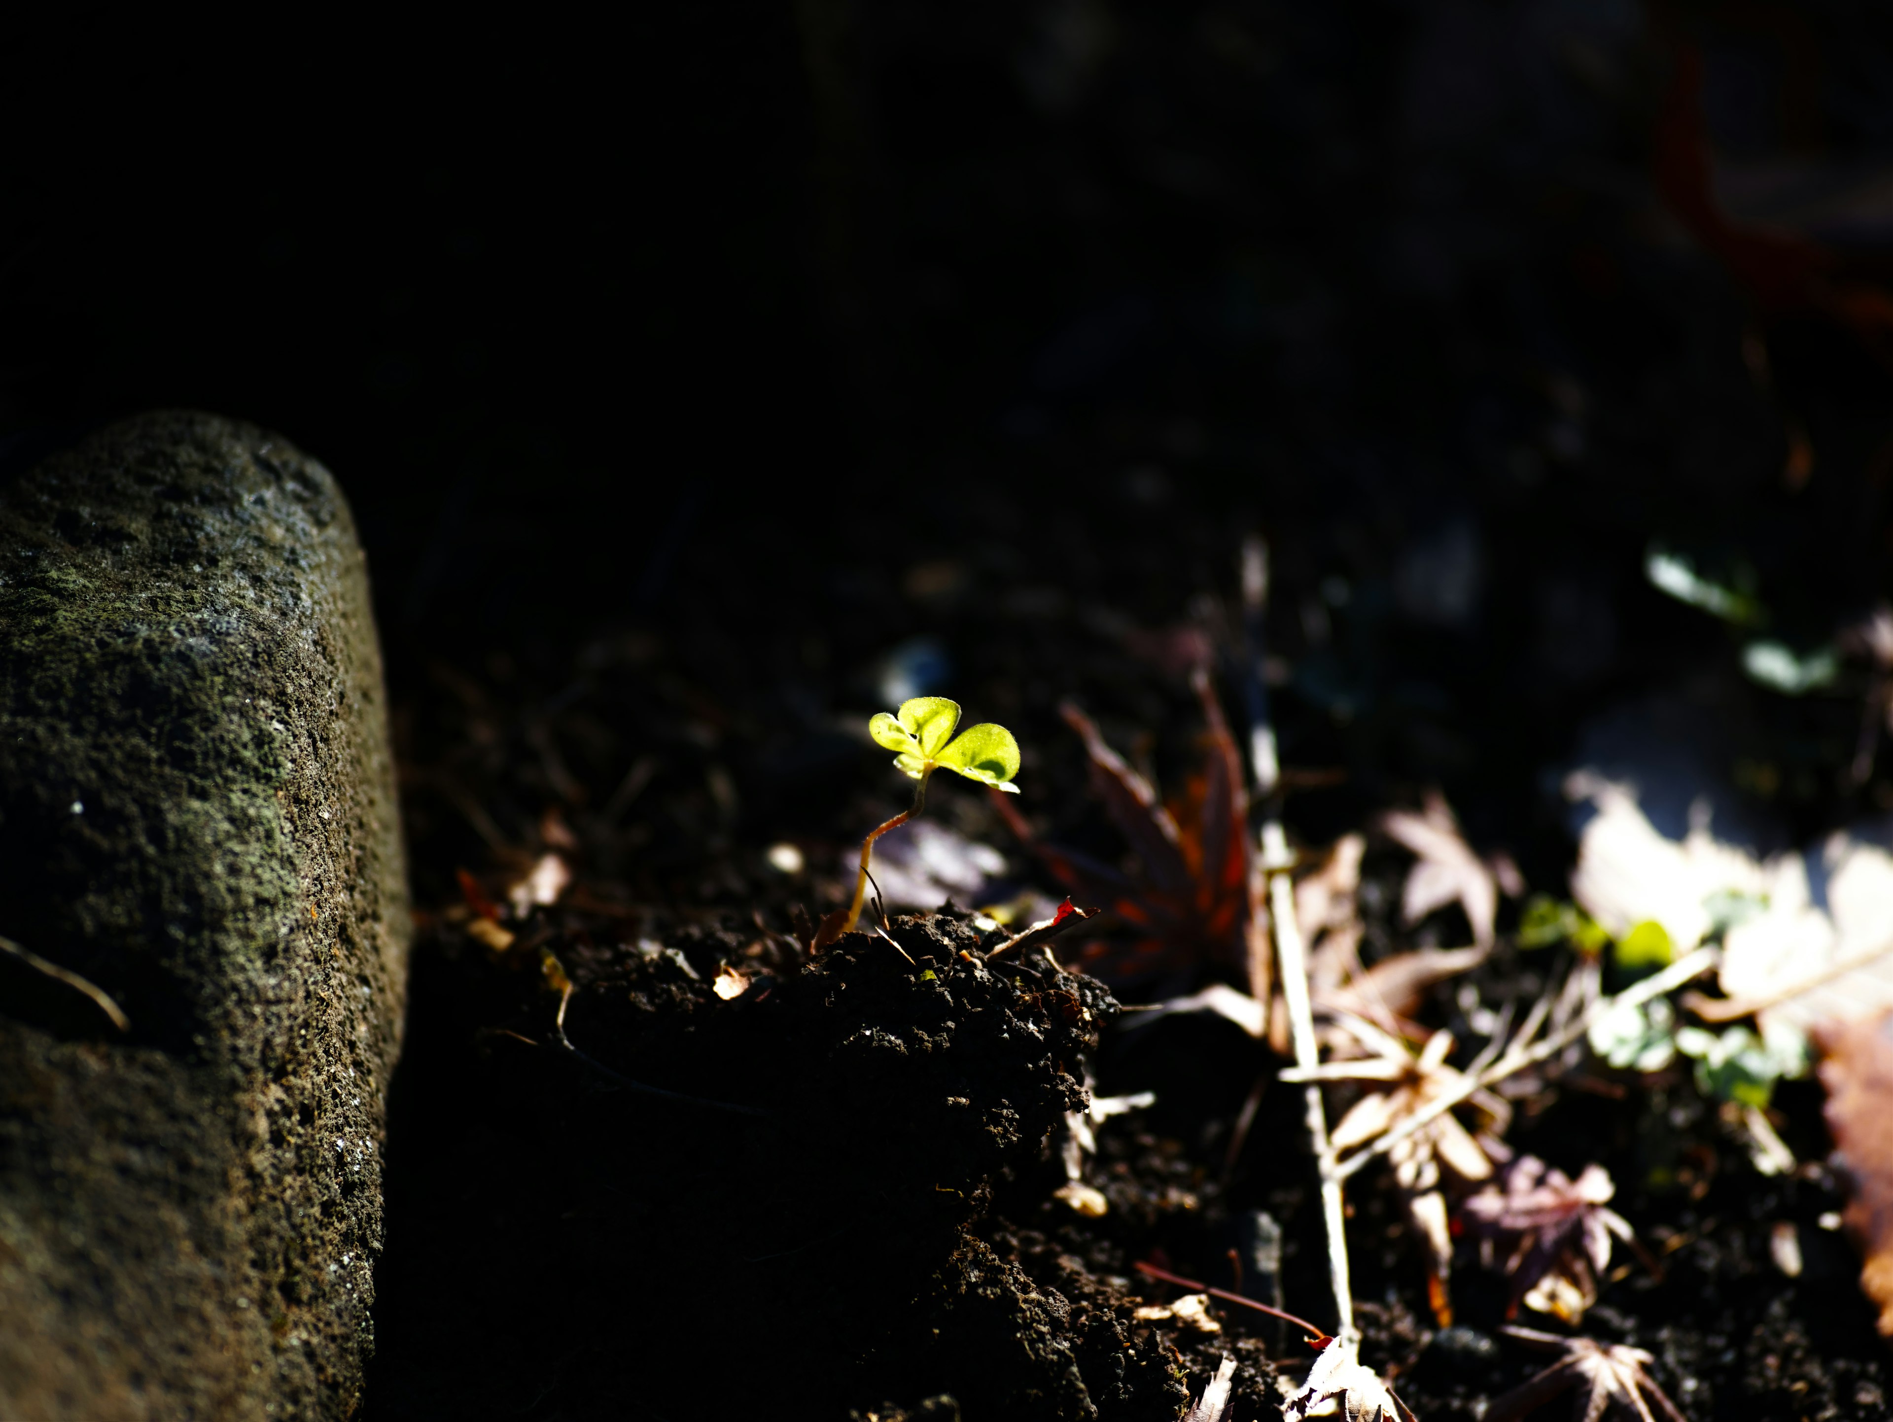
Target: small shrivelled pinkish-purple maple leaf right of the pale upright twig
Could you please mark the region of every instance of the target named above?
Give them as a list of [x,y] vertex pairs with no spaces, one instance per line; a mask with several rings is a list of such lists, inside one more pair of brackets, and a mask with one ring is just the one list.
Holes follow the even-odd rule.
[[1520,1155],[1497,1183],[1461,1206],[1488,1263],[1494,1244],[1511,1248],[1503,1269],[1513,1280],[1513,1312],[1524,1303],[1567,1324],[1583,1320],[1598,1301],[1598,1274],[1611,1263],[1611,1238],[1634,1238],[1609,1208],[1615,1193],[1600,1164],[1571,1180],[1535,1155]]

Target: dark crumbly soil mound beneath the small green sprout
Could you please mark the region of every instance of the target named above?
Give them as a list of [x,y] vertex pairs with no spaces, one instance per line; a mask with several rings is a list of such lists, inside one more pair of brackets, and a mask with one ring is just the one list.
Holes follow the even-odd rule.
[[[375,1416],[1177,1414],[1198,1360],[1134,1320],[1123,1261],[1100,1276],[990,1216],[1088,1102],[1117,1011],[1096,981],[988,960],[950,911],[816,960],[731,930],[536,937],[430,958],[415,1060],[439,1068],[396,1149],[433,1238],[384,1276],[409,1367]],[[428,1337],[403,1335],[416,1305]]]

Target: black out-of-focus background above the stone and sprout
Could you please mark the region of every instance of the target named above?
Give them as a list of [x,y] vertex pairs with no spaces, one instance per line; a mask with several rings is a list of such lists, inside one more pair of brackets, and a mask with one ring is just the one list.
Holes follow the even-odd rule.
[[1884,6],[80,9],[4,68],[4,468],[150,405],[284,432],[398,701],[647,629],[799,727],[742,786],[793,820],[890,649],[1051,723],[1255,528],[1285,754],[1348,774],[1308,833],[1444,784],[1518,841],[1651,695],[1796,829],[1885,801],[1870,657],[1740,670],[1885,587]]

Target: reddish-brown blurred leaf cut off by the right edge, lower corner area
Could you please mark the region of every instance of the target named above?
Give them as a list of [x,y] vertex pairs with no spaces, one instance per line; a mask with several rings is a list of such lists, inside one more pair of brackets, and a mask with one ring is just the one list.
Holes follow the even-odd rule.
[[1827,1129],[1848,1163],[1848,1231],[1861,1246],[1861,1289],[1893,1337],[1893,1013],[1813,1034]]

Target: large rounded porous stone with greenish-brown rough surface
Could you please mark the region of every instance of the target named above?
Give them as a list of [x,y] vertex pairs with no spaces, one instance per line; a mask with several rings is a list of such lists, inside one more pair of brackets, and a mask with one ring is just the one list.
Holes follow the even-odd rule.
[[409,941],[335,479],[208,415],[0,489],[0,1418],[345,1418]]

